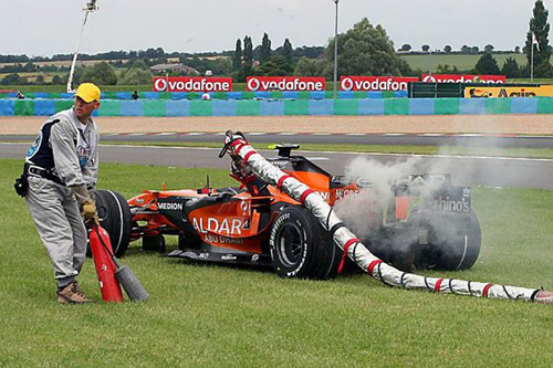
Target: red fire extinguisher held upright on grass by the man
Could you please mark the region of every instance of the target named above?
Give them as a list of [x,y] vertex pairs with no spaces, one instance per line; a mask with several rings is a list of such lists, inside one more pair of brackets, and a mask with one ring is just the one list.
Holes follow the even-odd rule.
[[88,240],[94,265],[96,266],[102,298],[105,302],[123,302],[119,282],[115,276],[117,267],[112,260],[113,251],[109,234],[100,224],[94,224]]

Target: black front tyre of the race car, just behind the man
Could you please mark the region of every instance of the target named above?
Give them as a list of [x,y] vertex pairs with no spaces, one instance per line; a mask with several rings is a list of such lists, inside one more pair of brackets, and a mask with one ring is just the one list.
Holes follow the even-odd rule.
[[121,193],[112,190],[96,190],[94,197],[100,223],[109,234],[113,253],[121,257],[131,242],[132,215],[128,203]]

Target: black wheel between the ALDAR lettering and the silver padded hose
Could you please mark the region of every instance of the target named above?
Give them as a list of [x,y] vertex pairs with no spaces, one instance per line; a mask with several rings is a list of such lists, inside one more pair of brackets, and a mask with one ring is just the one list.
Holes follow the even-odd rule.
[[269,239],[272,265],[281,277],[333,278],[342,251],[305,208],[293,206],[274,220]]

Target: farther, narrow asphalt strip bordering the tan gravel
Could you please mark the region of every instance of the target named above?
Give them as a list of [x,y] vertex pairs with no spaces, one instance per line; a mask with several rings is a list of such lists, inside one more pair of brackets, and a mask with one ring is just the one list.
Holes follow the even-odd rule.
[[[221,143],[223,133],[155,133],[155,134],[113,134],[102,135],[103,141],[192,141]],[[501,147],[501,148],[552,148],[553,136],[494,136],[482,134],[280,134],[247,133],[249,141],[255,143],[296,143],[319,145],[413,145],[413,146],[462,146],[462,147]],[[35,135],[0,135],[2,141],[32,141]]]

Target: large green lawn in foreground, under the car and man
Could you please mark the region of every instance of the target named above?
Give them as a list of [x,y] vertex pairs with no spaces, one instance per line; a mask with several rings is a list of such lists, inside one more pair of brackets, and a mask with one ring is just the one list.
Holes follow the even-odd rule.
[[[137,245],[124,263],[148,302],[58,305],[45,250],[12,190],[21,165],[0,160],[0,366],[549,367],[553,359],[551,306],[389,288],[364,274],[281,280]],[[223,170],[103,164],[98,187],[129,197],[161,180],[194,187],[207,172],[215,186],[231,182]],[[473,207],[480,259],[470,271],[440,274],[553,288],[553,191],[477,187]],[[80,282],[101,298],[91,260]]]

